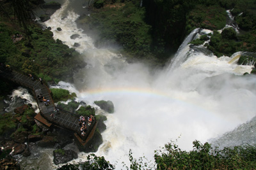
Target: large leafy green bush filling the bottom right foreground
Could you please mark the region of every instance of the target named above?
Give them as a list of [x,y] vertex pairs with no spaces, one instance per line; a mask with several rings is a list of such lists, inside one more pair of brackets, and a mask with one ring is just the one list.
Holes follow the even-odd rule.
[[253,169],[256,166],[255,146],[212,148],[209,143],[193,142],[193,150],[180,150],[168,143],[156,152],[157,169]]

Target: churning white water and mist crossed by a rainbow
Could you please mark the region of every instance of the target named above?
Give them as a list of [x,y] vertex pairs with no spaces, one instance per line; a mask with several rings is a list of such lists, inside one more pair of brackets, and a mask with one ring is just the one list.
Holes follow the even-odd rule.
[[[121,55],[95,48],[93,39],[77,29],[74,21],[79,15],[69,4],[65,1],[45,25],[68,46],[81,44],[76,49],[88,66],[74,76],[77,100],[110,100],[115,105],[115,113],[103,113],[107,129],[96,155],[113,164],[118,161],[117,167],[128,161],[129,149],[135,158],[145,155],[153,160],[154,150],[170,140],[179,138],[180,148],[191,150],[195,139],[204,143],[255,117],[256,79],[241,76],[252,66],[237,66],[234,57],[239,53],[218,58],[191,48],[188,43],[196,29],[175,55],[175,64],[152,75],[144,64],[127,64]],[[79,39],[70,39],[72,34],[79,34]],[[72,90],[67,83],[61,87]],[[84,159],[86,154],[79,153],[76,161]]]

